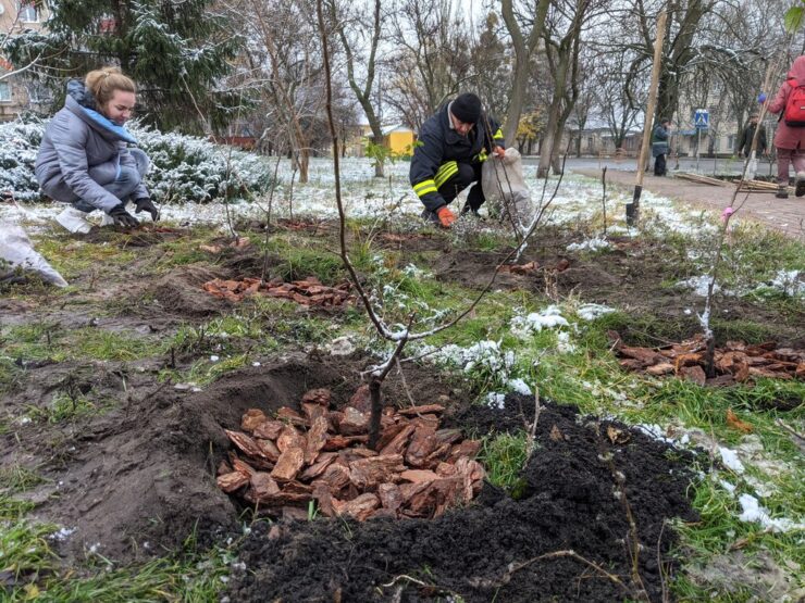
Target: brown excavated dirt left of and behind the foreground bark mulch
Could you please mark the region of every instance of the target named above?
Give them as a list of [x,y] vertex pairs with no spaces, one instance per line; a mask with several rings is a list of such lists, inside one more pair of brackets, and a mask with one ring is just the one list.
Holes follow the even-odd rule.
[[[67,389],[113,405],[74,422],[16,422],[0,436],[0,460],[36,466],[47,479],[24,497],[37,503],[38,519],[74,530],[55,543],[65,556],[82,557],[95,545],[120,562],[164,554],[194,530],[209,544],[237,530],[243,511],[215,485],[231,449],[224,428],[239,425],[250,407],[297,407],[311,388],[330,388],[343,404],[364,364],[289,356],[227,374],[200,392],[156,382],[157,367],[148,363],[32,368],[18,404],[7,411],[44,406]],[[408,378],[419,399],[461,398],[428,372],[409,370]],[[407,403],[398,378],[389,379],[389,403]]]

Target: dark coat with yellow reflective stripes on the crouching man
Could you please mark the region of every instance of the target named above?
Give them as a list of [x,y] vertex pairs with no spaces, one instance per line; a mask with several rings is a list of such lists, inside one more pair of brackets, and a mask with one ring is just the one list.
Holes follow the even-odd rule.
[[500,126],[482,113],[467,136],[450,127],[449,103],[431,116],[419,130],[409,180],[425,209],[435,212],[445,205],[438,188],[458,173],[458,163],[478,165],[495,147],[504,146]]

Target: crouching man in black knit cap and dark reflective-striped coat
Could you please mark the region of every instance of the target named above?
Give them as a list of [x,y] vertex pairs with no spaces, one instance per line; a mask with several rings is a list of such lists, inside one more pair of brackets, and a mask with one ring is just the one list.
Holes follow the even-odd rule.
[[449,228],[456,215],[447,205],[473,183],[462,213],[478,214],[485,201],[481,165],[490,153],[505,154],[504,136],[473,93],[460,95],[422,124],[409,173],[411,186],[425,206],[422,217]]

